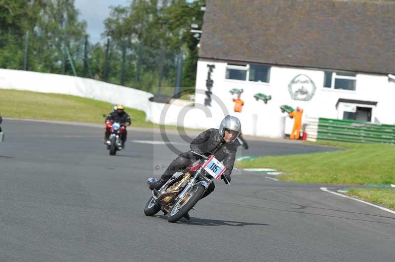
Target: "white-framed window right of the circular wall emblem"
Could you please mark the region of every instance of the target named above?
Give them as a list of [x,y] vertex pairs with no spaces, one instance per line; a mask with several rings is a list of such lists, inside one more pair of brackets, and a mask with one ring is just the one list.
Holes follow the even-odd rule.
[[325,71],[324,87],[342,90],[356,90],[356,74]]

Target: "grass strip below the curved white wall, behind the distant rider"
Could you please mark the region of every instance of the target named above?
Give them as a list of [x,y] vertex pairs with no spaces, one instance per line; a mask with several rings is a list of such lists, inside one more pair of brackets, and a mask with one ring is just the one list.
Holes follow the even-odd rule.
[[[69,95],[44,94],[28,91],[0,89],[2,117],[56,120],[71,122],[103,123],[103,114],[113,110],[113,104]],[[145,121],[145,113],[125,108],[132,126],[153,127]]]

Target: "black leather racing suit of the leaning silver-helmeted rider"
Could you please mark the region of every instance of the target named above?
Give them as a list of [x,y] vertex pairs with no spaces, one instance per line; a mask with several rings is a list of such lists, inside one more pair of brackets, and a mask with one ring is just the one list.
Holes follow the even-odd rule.
[[[234,143],[226,143],[218,129],[209,129],[200,133],[191,142],[190,147],[190,151],[180,154],[169,164],[166,171],[160,177],[161,180],[167,181],[175,172],[184,170],[190,164],[195,163],[199,159],[199,156],[192,153],[192,151],[200,153],[201,155],[214,155],[218,161],[223,161],[223,164],[226,166],[223,175],[230,178],[233,165],[235,164],[237,145]],[[213,192],[214,188],[214,183],[211,183],[202,198]]]

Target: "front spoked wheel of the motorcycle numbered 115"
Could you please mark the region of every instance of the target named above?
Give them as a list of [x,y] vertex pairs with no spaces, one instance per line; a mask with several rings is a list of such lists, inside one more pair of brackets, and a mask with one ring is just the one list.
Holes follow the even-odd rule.
[[199,201],[204,194],[204,190],[205,188],[200,184],[193,186],[184,198],[178,199],[173,205],[167,214],[167,221],[173,223],[180,220]]

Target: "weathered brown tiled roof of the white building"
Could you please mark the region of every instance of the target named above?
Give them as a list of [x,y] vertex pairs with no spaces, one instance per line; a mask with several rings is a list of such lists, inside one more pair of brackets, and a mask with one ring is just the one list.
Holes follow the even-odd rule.
[[395,1],[207,0],[200,58],[395,72]]

